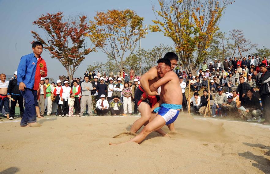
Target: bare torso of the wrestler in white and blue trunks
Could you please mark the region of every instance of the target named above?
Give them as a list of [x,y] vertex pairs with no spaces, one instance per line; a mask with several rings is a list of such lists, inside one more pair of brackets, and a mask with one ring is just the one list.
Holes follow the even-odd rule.
[[164,103],[182,105],[182,89],[179,85],[179,80],[175,72],[170,73],[172,80],[161,86],[161,94]]

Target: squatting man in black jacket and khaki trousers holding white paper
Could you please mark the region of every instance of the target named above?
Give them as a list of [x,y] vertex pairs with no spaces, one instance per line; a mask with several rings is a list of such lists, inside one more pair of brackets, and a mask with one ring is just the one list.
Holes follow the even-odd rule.
[[248,122],[255,119],[257,122],[261,122],[260,100],[256,96],[253,96],[253,89],[248,89],[246,95],[247,97],[245,100],[241,102],[241,105],[246,109],[246,111],[241,110],[243,116],[247,119]]

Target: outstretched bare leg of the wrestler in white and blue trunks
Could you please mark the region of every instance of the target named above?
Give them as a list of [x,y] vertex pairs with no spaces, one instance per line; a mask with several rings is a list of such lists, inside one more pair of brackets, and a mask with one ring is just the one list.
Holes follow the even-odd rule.
[[[146,125],[136,137],[132,138],[131,140],[127,142],[135,142],[135,143],[140,144],[145,139],[145,137],[149,135],[149,133],[155,130],[159,130],[165,124],[166,122],[164,118],[162,118],[161,115],[157,115],[156,118],[154,118],[152,122],[149,122],[148,125]],[[121,144],[124,144],[124,143],[121,143]],[[116,144],[109,143],[109,145],[116,145]]]

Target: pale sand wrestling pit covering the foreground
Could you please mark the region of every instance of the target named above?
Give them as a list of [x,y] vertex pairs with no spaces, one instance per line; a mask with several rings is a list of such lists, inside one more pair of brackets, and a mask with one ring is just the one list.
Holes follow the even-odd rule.
[[270,126],[181,114],[176,132],[163,127],[171,138],[153,132],[140,145],[108,145],[134,137],[123,132],[137,118],[1,121],[0,173],[270,173]]

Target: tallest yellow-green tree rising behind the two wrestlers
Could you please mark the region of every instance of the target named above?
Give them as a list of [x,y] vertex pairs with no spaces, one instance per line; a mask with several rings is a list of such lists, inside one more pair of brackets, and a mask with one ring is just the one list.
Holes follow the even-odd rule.
[[162,32],[175,44],[186,71],[195,74],[207,56],[213,34],[231,0],[158,0],[152,32]]

